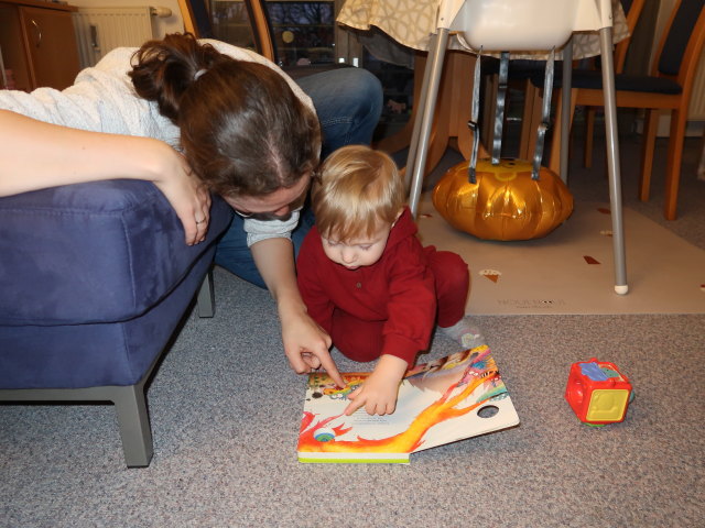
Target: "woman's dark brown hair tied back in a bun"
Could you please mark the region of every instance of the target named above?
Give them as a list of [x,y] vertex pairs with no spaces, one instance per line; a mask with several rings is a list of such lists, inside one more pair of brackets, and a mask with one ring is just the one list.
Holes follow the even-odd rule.
[[315,169],[318,120],[275,70],[188,33],[147,42],[133,63],[137,94],[180,128],[184,155],[212,190],[262,196]]

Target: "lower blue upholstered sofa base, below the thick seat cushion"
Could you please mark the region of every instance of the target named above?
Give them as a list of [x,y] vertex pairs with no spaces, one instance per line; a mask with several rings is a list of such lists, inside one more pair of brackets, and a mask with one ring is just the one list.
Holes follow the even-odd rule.
[[133,385],[164,351],[213,262],[215,244],[144,315],[120,322],[0,326],[0,389]]

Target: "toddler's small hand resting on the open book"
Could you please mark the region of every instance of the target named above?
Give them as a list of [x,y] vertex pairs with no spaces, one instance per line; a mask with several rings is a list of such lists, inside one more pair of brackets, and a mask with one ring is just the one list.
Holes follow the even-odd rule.
[[406,367],[404,360],[394,355],[382,355],[362,386],[348,396],[352,402],[345,409],[346,416],[362,406],[368,415],[391,415],[397,408],[399,382]]

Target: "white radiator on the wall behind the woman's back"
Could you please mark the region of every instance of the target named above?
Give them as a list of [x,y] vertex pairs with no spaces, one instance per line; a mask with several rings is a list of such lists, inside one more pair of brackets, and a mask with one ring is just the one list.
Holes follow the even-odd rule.
[[166,8],[79,8],[74,13],[82,68],[94,66],[110,50],[141,46],[153,37],[152,16],[171,16]]

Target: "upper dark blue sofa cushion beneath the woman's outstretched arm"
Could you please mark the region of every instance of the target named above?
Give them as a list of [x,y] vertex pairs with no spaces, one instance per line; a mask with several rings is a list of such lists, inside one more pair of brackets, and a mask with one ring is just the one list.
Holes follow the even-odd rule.
[[0,324],[124,321],[186,276],[230,220],[214,198],[205,243],[187,246],[162,193],[140,180],[0,198]]

